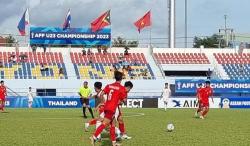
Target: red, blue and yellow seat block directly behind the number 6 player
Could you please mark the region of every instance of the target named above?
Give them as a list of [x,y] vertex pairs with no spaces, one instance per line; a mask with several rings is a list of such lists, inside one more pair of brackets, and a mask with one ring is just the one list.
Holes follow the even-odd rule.
[[[155,79],[143,53],[70,53],[77,79],[112,79],[115,69],[122,71],[126,79]],[[119,59],[123,58],[123,59]]]

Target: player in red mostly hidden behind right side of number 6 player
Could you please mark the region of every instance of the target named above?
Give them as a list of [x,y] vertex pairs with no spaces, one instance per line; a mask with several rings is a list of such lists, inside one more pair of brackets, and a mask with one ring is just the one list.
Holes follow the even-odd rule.
[[[128,93],[130,91],[130,89],[133,87],[133,83],[131,81],[127,81],[124,83],[124,87],[126,88],[127,93]],[[126,133],[126,130],[125,130],[125,124],[124,124],[123,117],[122,117],[121,105],[118,106],[117,110],[118,110],[118,115],[116,117],[116,120],[118,121],[119,130],[121,131],[121,138],[122,139],[131,139],[132,137],[128,136]]]

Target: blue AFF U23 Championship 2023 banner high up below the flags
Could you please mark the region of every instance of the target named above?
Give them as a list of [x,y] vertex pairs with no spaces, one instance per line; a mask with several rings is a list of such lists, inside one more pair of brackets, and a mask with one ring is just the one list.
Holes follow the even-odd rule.
[[90,28],[30,27],[30,44],[46,45],[110,45],[111,29],[92,32]]

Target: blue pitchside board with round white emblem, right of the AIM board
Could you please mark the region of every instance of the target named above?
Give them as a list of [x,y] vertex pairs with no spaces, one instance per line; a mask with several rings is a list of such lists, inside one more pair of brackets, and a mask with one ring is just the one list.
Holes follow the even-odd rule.
[[250,108],[250,97],[222,97],[221,108]]

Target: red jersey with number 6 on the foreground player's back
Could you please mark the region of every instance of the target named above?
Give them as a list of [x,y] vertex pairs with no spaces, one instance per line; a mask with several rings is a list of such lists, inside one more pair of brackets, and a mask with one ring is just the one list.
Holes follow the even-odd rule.
[[103,92],[107,94],[107,101],[104,105],[104,110],[112,111],[114,113],[120,101],[127,97],[126,88],[118,82],[107,85],[103,89]]

